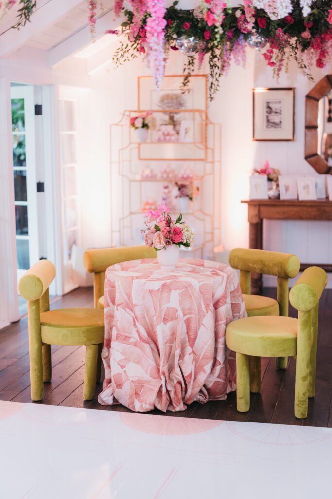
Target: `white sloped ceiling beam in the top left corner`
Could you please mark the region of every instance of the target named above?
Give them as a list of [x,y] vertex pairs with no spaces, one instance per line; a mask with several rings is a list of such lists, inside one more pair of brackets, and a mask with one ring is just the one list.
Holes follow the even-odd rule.
[[10,55],[24,45],[31,36],[58,22],[80,3],[82,0],[51,0],[37,8],[31,15],[31,22],[27,22],[20,29],[8,29],[0,36],[0,57]]

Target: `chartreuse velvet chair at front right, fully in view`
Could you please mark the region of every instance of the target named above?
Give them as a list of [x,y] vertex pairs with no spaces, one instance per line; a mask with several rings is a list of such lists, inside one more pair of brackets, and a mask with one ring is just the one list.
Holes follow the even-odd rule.
[[308,397],[315,395],[318,304],[328,277],[321,267],[307,268],[289,293],[298,319],[253,316],[230,322],[225,341],[236,352],[236,405],[239,412],[250,406],[249,356],[296,356],[294,414],[306,418]]

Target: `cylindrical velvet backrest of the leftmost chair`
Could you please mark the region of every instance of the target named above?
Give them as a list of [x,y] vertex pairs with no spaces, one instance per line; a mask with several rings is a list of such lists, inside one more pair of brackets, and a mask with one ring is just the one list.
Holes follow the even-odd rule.
[[55,277],[55,266],[49,260],[39,260],[25,272],[18,283],[18,291],[28,301],[40,298]]

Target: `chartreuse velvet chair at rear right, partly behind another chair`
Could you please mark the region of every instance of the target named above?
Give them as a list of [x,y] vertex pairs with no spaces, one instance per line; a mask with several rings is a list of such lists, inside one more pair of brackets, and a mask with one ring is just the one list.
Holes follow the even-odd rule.
[[[288,317],[288,280],[296,277],[300,260],[294,254],[275,251],[235,248],[229,254],[229,264],[240,271],[240,287],[248,317],[283,315]],[[277,299],[251,294],[251,272],[277,276]],[[276,359],[278,369],[286,369],[287,357]],[[259,375],[260,359],[250,359],[250,370]]]

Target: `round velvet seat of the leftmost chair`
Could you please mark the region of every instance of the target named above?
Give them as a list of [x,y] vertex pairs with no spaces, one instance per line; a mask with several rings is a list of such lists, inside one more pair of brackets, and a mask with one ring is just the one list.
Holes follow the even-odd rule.
[[41,339],[50,345],[96,345],[104,341],[104,310],[62,308],[40,314]]

